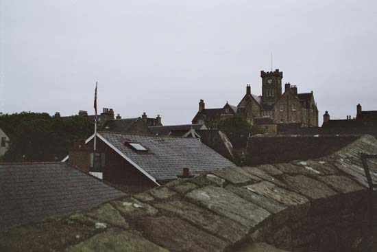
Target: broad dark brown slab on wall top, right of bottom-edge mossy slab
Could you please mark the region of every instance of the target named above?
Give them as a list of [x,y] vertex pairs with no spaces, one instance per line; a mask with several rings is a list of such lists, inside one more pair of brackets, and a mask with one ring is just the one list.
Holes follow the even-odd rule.
[[137,220],[137,227],[148,240],[170,251],[215,252],[229,245],[179,218],[142,218]]

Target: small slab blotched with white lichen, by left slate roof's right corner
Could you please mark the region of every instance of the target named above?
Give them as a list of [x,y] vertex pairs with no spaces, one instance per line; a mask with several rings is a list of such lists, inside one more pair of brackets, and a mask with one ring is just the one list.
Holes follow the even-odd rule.
[[125,198],[121,201],[113,201],[112,205],[125,216],[132,218],[142,216],[154,216],[158,213],[158,210],[151,205],[142,203],[136,200],[136,198]]

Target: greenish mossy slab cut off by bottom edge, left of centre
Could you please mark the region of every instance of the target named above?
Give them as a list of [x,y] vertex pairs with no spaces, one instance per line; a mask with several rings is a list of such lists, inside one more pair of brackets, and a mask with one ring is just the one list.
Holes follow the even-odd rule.
[[129,231],[109,230],[99,233],[96,236],[71,246],[66,252],[169,252],[167,249],[158,247],[145,238],[136,236]]

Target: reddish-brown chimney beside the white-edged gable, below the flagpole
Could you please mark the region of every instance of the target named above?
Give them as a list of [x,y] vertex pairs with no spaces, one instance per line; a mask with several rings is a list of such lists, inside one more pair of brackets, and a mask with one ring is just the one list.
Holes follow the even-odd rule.
[[84,172],[90,171],[89,150],[86,147],[85,140],[73,143],[71,150],[69,150],[69,163]]

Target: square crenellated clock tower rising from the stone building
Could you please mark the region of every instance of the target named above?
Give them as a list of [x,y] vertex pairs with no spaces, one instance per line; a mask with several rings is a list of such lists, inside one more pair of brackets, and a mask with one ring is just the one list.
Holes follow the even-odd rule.
[[282,71],[260,71],[262,78],[262,102],[275,104],[282,95]]

